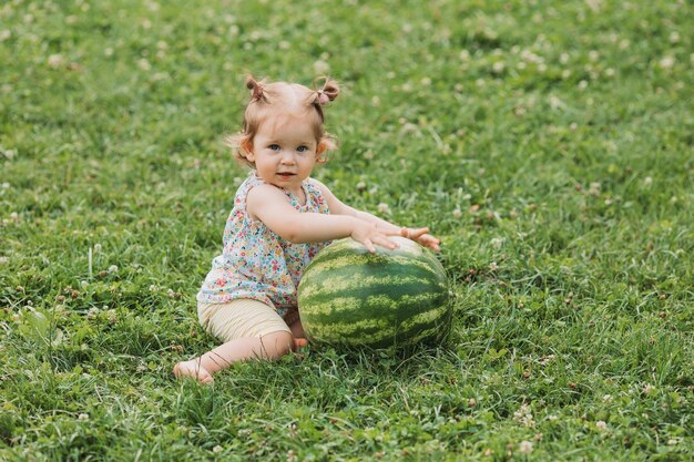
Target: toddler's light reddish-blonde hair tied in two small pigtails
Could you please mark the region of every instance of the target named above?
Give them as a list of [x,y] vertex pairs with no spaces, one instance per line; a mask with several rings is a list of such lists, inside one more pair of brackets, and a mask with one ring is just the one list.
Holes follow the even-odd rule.
[[[310,90],[297,83],[266,83],[265,80],[257,81],[249,75],[246,88],[251,90],[251,100],[244,113],[243,127],[241,132],[224,137],[224,144],[232,150],[234,158],[255,168],[255,163],[247,158],[253,147],[253,138],[261,124],[271,114],[279,111],[292,115],[309,115],[317,145],[322,146],[323,152],[336,148],[335,137],[324,129],[323,106],[337,97],[339,86],[328,78],[319,80],[323,80],[323,86]],[[318,162],[326,162],[325,157],[322,156]]]

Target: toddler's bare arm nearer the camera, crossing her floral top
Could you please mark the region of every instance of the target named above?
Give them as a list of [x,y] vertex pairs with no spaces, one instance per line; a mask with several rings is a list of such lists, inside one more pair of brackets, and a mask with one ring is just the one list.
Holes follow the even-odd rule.
[[374,245],[390,249],[397,247],[387,236],[399,234],[399,229],[394,233],[348,215],[298,213],[285,194],[271,185],[251,189],[246,197],[246,211],[252,218],[259,219],[282,238],[295,244],[351,237],[369,251],[376,251]]

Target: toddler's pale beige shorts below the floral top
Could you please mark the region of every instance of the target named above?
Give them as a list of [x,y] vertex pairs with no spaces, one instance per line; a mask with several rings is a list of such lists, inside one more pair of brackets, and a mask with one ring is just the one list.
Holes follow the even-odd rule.
[[262,301],[239,298],[228,304],[198,302],[197,319],[208,333],[227,342],[277,331],[292,333],[289,325],[298,320],[298,312],[289,310],[283,318]]

